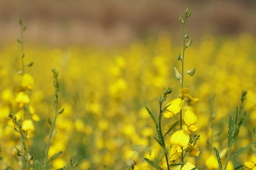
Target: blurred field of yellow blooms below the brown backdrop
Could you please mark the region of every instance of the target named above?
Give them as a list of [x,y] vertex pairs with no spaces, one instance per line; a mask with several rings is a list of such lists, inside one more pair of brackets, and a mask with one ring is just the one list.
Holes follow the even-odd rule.
[[[4,45],[0,48],[0,170],[25,167],[23,157],[28,159],[29,166],[26,166],[29,168],[44,164],[57,102],[58,118],[47,159],[55,153],[63,153],[50,161],[47,169],[65,166],[70,170],[153,170],[146,158],[167,170],[163,148],[154,139],[156,125],[145,106],[158,118],[159,96],[163,97],[169,86],[172,93],[163,100],[163,108],[171,101],[169,107],[174,107],[175,102],[184,103],[184,97],[189,100],[183,106],[184,121],[194,144],[189,143],[188,148],[192,150],[185,153],[185,160],[182,160],[188,162],[185,166],[193,164],[199,170],[219,169],[215,147],[224,167],[230,113],[236,115],[243,89],[247,90],[247,95],[242,94],[246,99],[241,114],[247,111],[247,119],[230,156],[255,141],[255,49],[255,40],[246,33],[230,39],[206,35],[194,40],[186,49],[184,69],[195,67],[196,71],[192,77],[184,75],[184,89],[180,91],[174,67],[181,74],[177,56],[183,47],[175,44],[168,33],[137,40],[129,47],[115,50],[74,46],[49,48],[24,43],[23,58],[18,43]],[[177,108],[169,107],[160,125],[163,134],[170,128],[168,125],[179,120],[178,114],[172,111]],[[186,119],[186,112],[196,115],[197,120],[191,125],[188,122],[192,118]],[[182,150],[188,144],[175,143],[172,139],[175,133],[165,136],[169,153],[174,144]],[[181,152],[177,150],[176,147],[179,157]],[[77,167],[74,166],[76,161]],[[178,162],[171,159],[169,164]],[[227,164],[227,170],[244,164],[255,169],[255,163],[251,145]],[[186,168],[184,170],[192,169]]]

